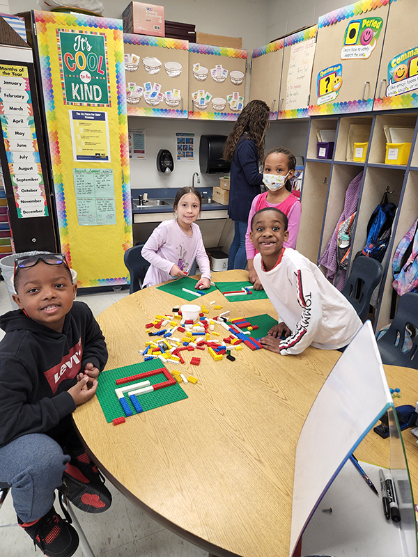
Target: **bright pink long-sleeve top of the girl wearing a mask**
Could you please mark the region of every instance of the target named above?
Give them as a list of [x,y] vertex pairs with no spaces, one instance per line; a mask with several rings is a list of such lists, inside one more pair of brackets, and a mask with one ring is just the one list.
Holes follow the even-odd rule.
[[299,199],[291,194],[286,197],[284,201],[275,205],[274,203],[268,203],[267,194],[268,191],[265,191],[264,194],[256,196],[251,203],[251,209],[249,210],[248,215],[247,233],[245,234],[245,251],[247,252],[247,259],[254,259],[254,256],[258,253],[251,240],[249,240],[249,233],[251,232],[251,219],[257,211],[264,209],[265,207],[274,207],[274,209],[279,209],[281,212],[286,214],[286,217],[288,217],[289,239],[287,242],[284,242],[283,245],[285,248],[295,249],[296,247],[297,233],[299,232],[300,226],[300,214],[302,212],[302,205],[300,204]]

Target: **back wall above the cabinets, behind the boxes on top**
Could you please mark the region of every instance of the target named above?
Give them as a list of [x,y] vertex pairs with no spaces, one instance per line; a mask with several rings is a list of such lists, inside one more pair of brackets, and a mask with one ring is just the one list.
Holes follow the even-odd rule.
[[[7,3],[8,0],[0,0]],[[13,13],[28,10],[40,10],[36,0],[9,0]],[[129,0],[101,0],[104,6],[102,15],[120,19]],[[64,0],[56,0],[63,6]],[[86,0],[88,3],[88,0]],[[70,3],[70,2],[68,2]],[[265,44],[266,40],[266,7],[268,0],[148,0],[165,8],[165,18],[169,21],[191,23],[196,31],[242,37],[242,48],[252,50]]]

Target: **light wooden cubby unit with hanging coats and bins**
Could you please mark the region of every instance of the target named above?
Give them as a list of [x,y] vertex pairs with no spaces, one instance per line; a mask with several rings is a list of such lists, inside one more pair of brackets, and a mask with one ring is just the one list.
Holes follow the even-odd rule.
[[[370,125],[369,145],[364,162],[346,160],[347,141],[351,124]],[[408,164],[385,164],[386,137],[384,126],[414,127]],[[315,158],[317,130],[336,130],[332,159]],[[297,239],[297,250],[318,262],[329,242],[343,211],[346,191],[351,180],[363,172],[357,215],[353,230],[348,269],[355,254],[366,243],[367,223],[385,191],[389,201],[398,207],[392,237],[382,262],[384,274],[380,290],[369,315],[376,330],[387,325],[392,303],[392,259],[396,246],[418,217],[418,113],[393,111],[368,113],[364,116],[315,116],[308,132],[307,157],[302,184],[302,223]]]

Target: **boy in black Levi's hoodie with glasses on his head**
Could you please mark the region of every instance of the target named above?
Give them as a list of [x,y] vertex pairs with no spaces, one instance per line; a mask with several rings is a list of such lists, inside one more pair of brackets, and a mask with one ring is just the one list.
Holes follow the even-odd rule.
[[104,336],[65,257],[17,258],[19,310],[0,317],[0,481],[12,485],[19,524],[50,557],[69,557],[79,539],[54,510],[55,489],[86,512],[111,504],[71,414],[90,400],[107,361]]

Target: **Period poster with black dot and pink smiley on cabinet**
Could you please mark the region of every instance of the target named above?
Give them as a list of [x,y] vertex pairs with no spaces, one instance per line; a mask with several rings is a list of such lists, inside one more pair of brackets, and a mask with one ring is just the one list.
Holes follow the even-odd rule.
[[382,26],[381,17],[364,17],[350,22],[344,33],[341,60],[370,58],[376,48]]

